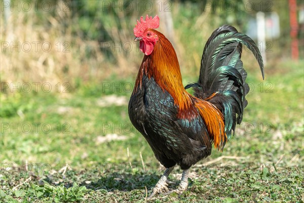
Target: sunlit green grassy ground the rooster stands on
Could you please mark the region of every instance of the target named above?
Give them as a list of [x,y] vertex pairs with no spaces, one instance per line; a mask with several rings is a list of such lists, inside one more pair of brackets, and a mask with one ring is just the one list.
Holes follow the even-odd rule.
[[[264,81],[249,69],[254,89],[224,151],[213,150],[192,167],[188,191],[150,201],[303,202],[302,64],[289,61],[266,70]],[[149,193],[163,168],[129,120],[127,85],[133,80],[80,85],[72,93],[2,93],[1,200],[145,201],[145,188]],[[126,103],[100,105],[113,94]],[[103,140],[111,137],[118,139]],[[211,163],[220,156],[234,157]],[[176,167],[170,179],[178,183],[180,174]]]

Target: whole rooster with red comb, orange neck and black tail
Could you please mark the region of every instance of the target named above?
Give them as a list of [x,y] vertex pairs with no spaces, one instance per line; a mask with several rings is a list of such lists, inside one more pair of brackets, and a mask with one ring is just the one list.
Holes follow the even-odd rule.
[[[197,83],[182,85],[177,56],[169,40],[155,28],[159,17],[137,20],[135,40],[144,53],[133,93],[129,117],[156,158],[166,167],[149,198],[168,191],[168,176],[175,165],[182,172],[176,192],[188,186],[189,168],[211,154],[212,145],[223,150],[247,106],[249,86],[241,61],[242,45],[255,56],[263,74],[263,61],[252,39],[230,25],[213,31],[203,51]],[[186,89],[194,88],[194,96]]]

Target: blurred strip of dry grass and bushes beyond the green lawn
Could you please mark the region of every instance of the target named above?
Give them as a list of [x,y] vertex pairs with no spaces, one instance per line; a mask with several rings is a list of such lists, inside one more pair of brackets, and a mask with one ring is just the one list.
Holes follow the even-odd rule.
[[1,82],[69,82],[74,89],[111,76],[134,77],[142,54],[133,27],[146,14],[161,17],[159,30],[187,75],[197,76],[204,42],[223,24],[257,42],[270,73],[292,58],[292,45],[295,58],[303,55],[303,3],[291,2],[294,9],[289,1],[2,1]]

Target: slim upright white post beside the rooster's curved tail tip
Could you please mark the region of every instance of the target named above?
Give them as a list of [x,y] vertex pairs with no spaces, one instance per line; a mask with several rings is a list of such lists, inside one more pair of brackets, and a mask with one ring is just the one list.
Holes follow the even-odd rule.
[[257,22],[257,46],[261,52],[264,65],[267,64],[266,60],[266,33],[265,33],[265,14],[263,12],[256,13]]

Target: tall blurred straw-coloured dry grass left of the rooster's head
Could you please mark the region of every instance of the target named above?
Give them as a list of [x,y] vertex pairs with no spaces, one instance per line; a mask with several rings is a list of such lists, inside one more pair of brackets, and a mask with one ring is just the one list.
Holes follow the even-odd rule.
[[[58,4],[64,8],[62,1]],[[138,54],[134,53],[137,44],[133,42],[132,29],[124,21],[120,23],[122,31],[119,30],[113,16],[104,20],[109,20],[108,23],[99,22],[97,17],[91,22],[90,29],[104,23],[112,39],[98,42],[85,38],[80,31],[79,17],[64,9],[9,10],[7,20],[5,12],[0,15],[1,24],[5,25],[0,30],[1,82],[48,82],[52,86],[68,82],[73,86],[75,79],[100,81],[112,74],[128,75],[140,62],[140,59],[134,60]],[[109,49],[115,61],[108,60],[103,49]]]

